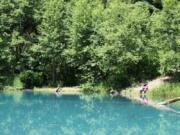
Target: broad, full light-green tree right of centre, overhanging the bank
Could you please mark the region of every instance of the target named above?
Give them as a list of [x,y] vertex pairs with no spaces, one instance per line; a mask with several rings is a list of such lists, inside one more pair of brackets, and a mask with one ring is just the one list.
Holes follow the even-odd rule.
[[156,75],[158,55],[156,46],[151,45],[149,40],[151,23],[148,4],[113,1],[104,17],[98,28],[104,41],[97,46],[96,54],[110,83],[122,87],[134,80]]

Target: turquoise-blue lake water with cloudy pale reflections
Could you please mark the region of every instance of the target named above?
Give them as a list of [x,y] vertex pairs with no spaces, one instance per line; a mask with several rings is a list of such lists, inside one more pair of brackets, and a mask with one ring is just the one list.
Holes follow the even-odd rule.
[[180,115],[123,97],[1,92],[0,135],[180,135]]

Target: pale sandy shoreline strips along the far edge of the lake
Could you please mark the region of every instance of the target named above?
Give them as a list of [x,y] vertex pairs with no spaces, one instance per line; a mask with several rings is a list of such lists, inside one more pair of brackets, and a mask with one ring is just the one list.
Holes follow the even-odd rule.
[[[43,94],[55,94],[56,96],[60,96],[60,95],[82,95],[82,89],[80,88],[80,86],[74,86],[74,87],[62,87],[61,91],[59,93],[56,93],[56,88],[52,88],[52,87],[42,87],[42,88],[38,88],[38,87],[34,87],[33,89],[23,89],[23,90],[3,90],[4,92],[16,92],[16,91],[29,91],[29,92],[37,92],[37,93],[43,93]],[[177,114],[180,114],[180,112],[169,108],[166,105],[160,105],[160,100],[153,100],[150,98],[150,96],[147,95],[142,95],[143,97],[141,97],[141,95],[139,94],[139,91],[136,88],[127,88],[122,90],[121,92],[116,92],[116,94],[107,94],[113,97],[116,96],[121,96],[121,97],[125,97],[129,100],[138,102],[139,104],[143,104],[143,105],[147,105],[147,106],[151,106],[154,107],[156,109],[159,110],[165,110],[165,111],[171,111]]]

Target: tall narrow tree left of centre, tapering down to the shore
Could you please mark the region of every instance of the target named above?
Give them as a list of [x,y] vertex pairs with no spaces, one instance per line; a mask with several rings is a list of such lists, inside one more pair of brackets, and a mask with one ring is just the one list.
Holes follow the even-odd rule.
[[[38,56],[42,72],[46,72],[46,79],[57,83],[65,66],[63,51],[67,46],[66,41],[66,2],[63,0],[50,0],[44,3],[42,23],[39,26],[39,43],[33,46],[33,51]],[[37,57],[37,55],[35,55]]]

